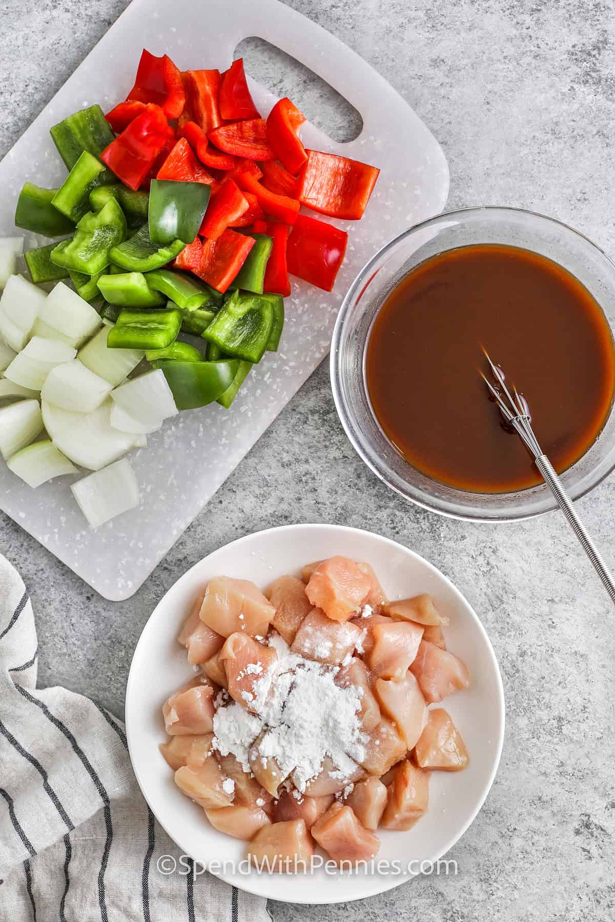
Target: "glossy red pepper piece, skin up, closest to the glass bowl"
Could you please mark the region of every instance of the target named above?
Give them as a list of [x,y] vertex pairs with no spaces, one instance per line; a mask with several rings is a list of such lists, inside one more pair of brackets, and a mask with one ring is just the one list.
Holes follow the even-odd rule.
[[289,272],[316,288],[332,290],[342,265],[348,234],[333,224],[299,215],[286,248]]

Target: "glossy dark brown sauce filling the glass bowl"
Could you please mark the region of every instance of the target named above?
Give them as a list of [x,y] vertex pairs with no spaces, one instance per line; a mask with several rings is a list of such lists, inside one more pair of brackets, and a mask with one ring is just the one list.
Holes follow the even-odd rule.
[[577,278],[513,246],[432,256],[384,301],[365,375],[387,438],[409,464],[450,486],[523,490],[541,478],[488,399],[483,346],[526,396],[538,442],[561,473],[585,455],[609,415],[613,337]]

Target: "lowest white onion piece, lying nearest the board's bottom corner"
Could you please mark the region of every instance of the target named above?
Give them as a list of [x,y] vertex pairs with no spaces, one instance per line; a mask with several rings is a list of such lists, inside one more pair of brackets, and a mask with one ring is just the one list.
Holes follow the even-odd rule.
[[71,484],[81,512],[92,528],[139,504],[139,487],[130,461],[123,458]]

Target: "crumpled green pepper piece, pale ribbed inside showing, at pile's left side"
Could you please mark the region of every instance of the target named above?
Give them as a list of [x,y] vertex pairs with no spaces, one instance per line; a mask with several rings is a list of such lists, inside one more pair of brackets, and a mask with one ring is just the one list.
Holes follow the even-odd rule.
[[58,243],[53,250],[52,262],[56,266],[95,276],[109,266],[112,247],[125,237],[124,212],[111,198],[100,211],[89,211],[80,219],[72,240]]

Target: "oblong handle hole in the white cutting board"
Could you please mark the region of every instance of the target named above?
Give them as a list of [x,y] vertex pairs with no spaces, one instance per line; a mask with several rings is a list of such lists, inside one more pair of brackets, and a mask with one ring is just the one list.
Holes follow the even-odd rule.
[[336,89],[290,54],[250,36],[235,49],[245,71],[281,98],[288,96],[305,117],[338,144],[361,135],[361,114]]

